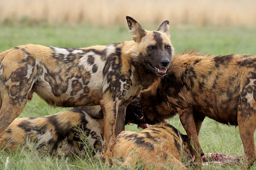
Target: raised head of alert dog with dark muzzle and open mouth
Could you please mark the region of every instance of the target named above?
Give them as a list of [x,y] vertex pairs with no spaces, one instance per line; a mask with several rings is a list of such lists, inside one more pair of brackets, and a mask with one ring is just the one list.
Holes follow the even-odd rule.
[[173,47],[169,38],[169,21],[164,21],[157,31],[144,30],[133,18],[126,17],[131,37],[138,43],[138,56],[143,68],[155,75],[166,74]]

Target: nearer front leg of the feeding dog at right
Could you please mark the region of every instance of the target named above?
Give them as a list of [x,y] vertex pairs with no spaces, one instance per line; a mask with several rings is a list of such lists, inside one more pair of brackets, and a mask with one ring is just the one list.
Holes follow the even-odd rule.
[[192,155],[195,155],[195,162],[201,163],[200,155],[200,144],[197,137],[197,130],[195,125],[195,120],[193,117],[193,107],[190,105],[186,109],[181,109],[178,111],[180,122],[183,125],[183,128],[186,130],[187,137],[190,141],[193,142],[195,149],[189,147],[189,150]]

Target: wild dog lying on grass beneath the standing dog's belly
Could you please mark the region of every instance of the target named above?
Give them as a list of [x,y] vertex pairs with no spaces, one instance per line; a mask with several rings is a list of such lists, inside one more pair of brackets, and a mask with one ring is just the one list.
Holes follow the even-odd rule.
[[[83,154],[87,145],[95,148],[98,156],[103,149],[103,118],[100,106],[75,107],[55,115],[16,118],[0,134],[0,148],[16,150],[19,145],[32,144],[42,153],[61,155]],[[141,107],[127,107],[125,124],[143,123]],[[92,152],[93,154],[94,152]]]

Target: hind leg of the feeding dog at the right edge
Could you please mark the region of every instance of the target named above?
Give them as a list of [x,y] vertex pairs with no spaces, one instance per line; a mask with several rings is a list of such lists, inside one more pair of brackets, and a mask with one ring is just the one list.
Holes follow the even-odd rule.
[[249,168],[255,161],[256,79],[249,80],[248,85],[243,87],[238,104],[238,127],[244,149],[241,168]]

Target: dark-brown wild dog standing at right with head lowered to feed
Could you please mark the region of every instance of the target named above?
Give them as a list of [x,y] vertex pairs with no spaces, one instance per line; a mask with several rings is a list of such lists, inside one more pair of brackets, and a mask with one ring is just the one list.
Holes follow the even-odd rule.
[[[197,150],[205,116],[238,125],[244,155],[252,165],[255,160],[256,56],[212,56],[189,51],[174,56],[170,68],[166,76],[140,93],[146,122],[154,124],[179,114]],[[192,148],[190,151],[200,162],[198,152]],[[243,160],[242,167],[247,160]]]

